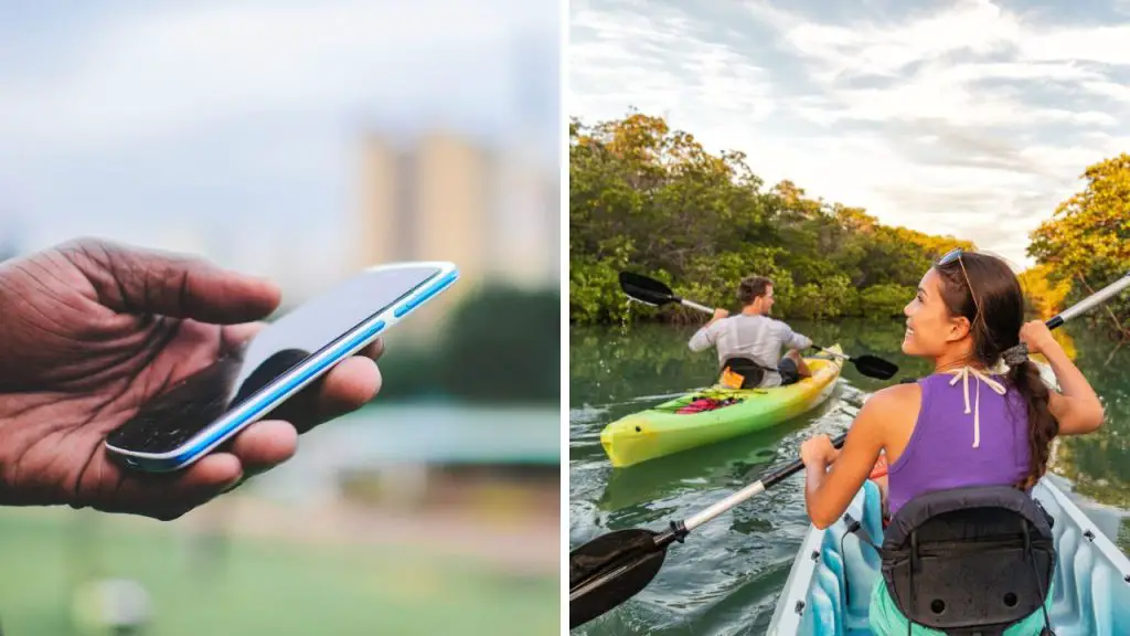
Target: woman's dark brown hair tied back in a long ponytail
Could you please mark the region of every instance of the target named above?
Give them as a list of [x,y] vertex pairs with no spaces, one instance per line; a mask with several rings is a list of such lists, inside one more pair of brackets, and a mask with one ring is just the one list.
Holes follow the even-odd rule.
[[[1005,351],[1020,342],[1024,326],[1020,281],[1005,261],[985,253],[965,252],[960,261],[954,259],[935,269],[941,278],[941,295],[950,315],[964,316],[970,321],[972,358],[985,368],[994,367]],[[966,284],[966,273],[972,290]],[[1033,362],[1025,360],[1011,367],[1008,384],[1024,398],[1027,411],[1031,459],[1027,476],[1017,485],[1031,488],[1048,470],[1059,422],[1048,407],[1048,385]]]

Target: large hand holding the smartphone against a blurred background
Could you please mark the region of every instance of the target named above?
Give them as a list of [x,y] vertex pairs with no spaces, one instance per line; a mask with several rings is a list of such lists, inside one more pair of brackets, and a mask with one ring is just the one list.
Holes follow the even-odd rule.
[[0,505],[173,519],[288,459],[299,432],[372,399],[381,341],[183,471],[136,473],[108,459],[106,433],[238,352],[279,301],[270,282],[99,240],[0,264]]

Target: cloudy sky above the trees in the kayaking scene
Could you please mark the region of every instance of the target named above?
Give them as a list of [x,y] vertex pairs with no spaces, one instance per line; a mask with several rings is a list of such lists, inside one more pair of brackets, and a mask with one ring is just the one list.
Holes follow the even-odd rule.
[[629,106],[768,183],[1017,266],[1092,163],[1130,152],[1130,0],[575,0],[570,113]]

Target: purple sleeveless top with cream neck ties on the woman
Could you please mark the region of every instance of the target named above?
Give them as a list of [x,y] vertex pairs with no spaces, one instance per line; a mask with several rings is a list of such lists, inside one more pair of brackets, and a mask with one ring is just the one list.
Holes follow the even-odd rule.
[[[918,381],[922,406],[914,432],[898,461],[887,471],[892,516],[924,492],[967,485],[1010,485],[1028,474],[1028,415],[1024,398],[1006,378],[986,376],[1005,388],[1005,395],[970,373],[968,413],[966,387],[959,377],[954,383],[953,373],[936,373]],[[974,412],[979,415],[976,427]],[[979,438],[976,447],[975,438]]]

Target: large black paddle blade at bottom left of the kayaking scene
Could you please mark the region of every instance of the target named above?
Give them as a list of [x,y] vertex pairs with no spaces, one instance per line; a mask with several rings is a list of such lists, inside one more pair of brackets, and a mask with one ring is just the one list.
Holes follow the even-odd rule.
[[635,596],[655,578],[667,545],[650,530],[618,530],[568,553],[568,628],[584,625]]

